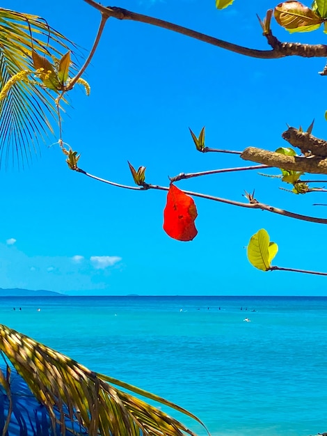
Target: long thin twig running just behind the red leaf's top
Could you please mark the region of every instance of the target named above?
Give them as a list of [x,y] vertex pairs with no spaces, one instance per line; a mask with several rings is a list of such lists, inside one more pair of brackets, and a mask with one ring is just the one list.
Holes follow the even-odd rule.
[[[86,173],[86,171],[84,171],[83,169],[77,168],[74,171],[77,171],[81,174],[84,174],[85,176],[88,176],[90,178],[94,178],[95,180],[99,180],[99,182],[104,182],[104,183],[107,183],[108,185],[122,187],[125,189],[134,189],[135,191],[145,191],[147,189],[157,189],[159,191],[169,191],[169,187],[166,187],[166,186],[150,185],[148,183],[145,183],[142,187],[120,185],[120,183],[111,182],[109,180],[105,180],[103,178],[93,176],[90,173]],[[260,203],[259,201],[255,200],[255,198],[250,198],[249,203],[241,203],[241,201],[229,200],[228,198],[221,198],[221,197],[216,197],[216,196],[212,196],[212,195],[208,195],[208,194],[200,194],[199,192],[191,192],[191,191],[185,191],[185,190],[182,190],[182,192],[184,192],[184,194],[187,194],[187,195],[190,195],[193,197],[199,197],[199,198],[205,198],[207,200],[218,201],[220,203],[239,206],[240,208],[261,209],[261,210],[266,210],[267,212],[272,212],[272,213],[276,213],[278,215],[283,215],[285,217],[300,219],[301,221],[309,221],[309,222],[317,223],[317,224],[327,224],[326,218],[309,217],[307,215],[301,215],[301,214],[297,214],[294,212],[289,212],[288,210],[275,208],[273,206],[266,205],[264,203]]]

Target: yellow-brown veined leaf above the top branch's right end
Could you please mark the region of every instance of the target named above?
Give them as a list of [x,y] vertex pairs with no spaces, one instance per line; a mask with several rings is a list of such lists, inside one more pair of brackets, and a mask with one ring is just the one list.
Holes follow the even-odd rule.
[[276,6],[273,15],[289,32],[308,32],[319,28],[324,20],[299,1],[285,1]]

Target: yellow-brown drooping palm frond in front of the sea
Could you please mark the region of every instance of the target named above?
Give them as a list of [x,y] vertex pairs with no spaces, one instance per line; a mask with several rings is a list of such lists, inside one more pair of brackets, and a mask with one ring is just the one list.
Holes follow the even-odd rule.
[[[177,419],[115,385],[182,412],[205,427],[182,407],[90,371],[5,325],[0,325],[0,350],[24,378],[35,398],[47,407],[52,427],[55,429],[60,424],[62,435],[66,431],[79,434],[76,428],[81,428],[90,436],[196,436]],[[8,391],[3,380],[0,377],[0,383]]]

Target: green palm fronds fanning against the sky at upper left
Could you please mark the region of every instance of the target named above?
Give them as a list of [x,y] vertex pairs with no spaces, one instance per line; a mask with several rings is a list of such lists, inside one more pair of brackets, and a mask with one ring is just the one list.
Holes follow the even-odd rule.
[[[23,70],[33,71],[32,50],[54,62],[72,48],[72,42],[45,20],[0,8],[0,91]],[[54,96],[36,83],[18,81],[0,102],[0,165],[30,162],[39,141],[54,133],[57,121]]]

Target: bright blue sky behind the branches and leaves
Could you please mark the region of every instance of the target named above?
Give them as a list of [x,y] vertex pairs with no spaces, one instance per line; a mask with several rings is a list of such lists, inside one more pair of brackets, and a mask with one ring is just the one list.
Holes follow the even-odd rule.
[[[271,0],[241,0],[223,11],[214,0],[125,0],[138,13],[267,49],[256,13]],[[34,13],[90,49],[99,13],[82,0],[56,3],[4,1],[2,7]],[[326,42],[322,31],[280,40]],[[80,167],[133,185],[127,160],[147,167],[147,182],[168,185],[180,172],[244,166],[235,155],[196,152],[189,127],[206,126],[207,146],[276,150],[286,123],[326,138],[324,59],[250,59],[164,29],[111,19],[84,76],[89,97],[76,86],[63,123],[63,139],[81,153]],[[58,135],[58,131],[56,132]],[[260,210],[197,198],[198,236],[170,239],[162,229],[166,194],[104,185],[69,171],[49,137],[41,156],[22,170],[0,172],[0,287],[47,289],[77,295],[326,295],[327,278],[261,272],[246,258],[250,236],[266,228],[278,243],[274,265],[327,271],[326,227]],[[267,171],[268,173],[268,171]],[[278,174],[278,170],[269,173]],[[317,178],[317,176],[314,176]],[[296,196],[255,171],[178,183],[181,189],[244,201],[258,200],[306,215],[326,216],[326,194]]]

